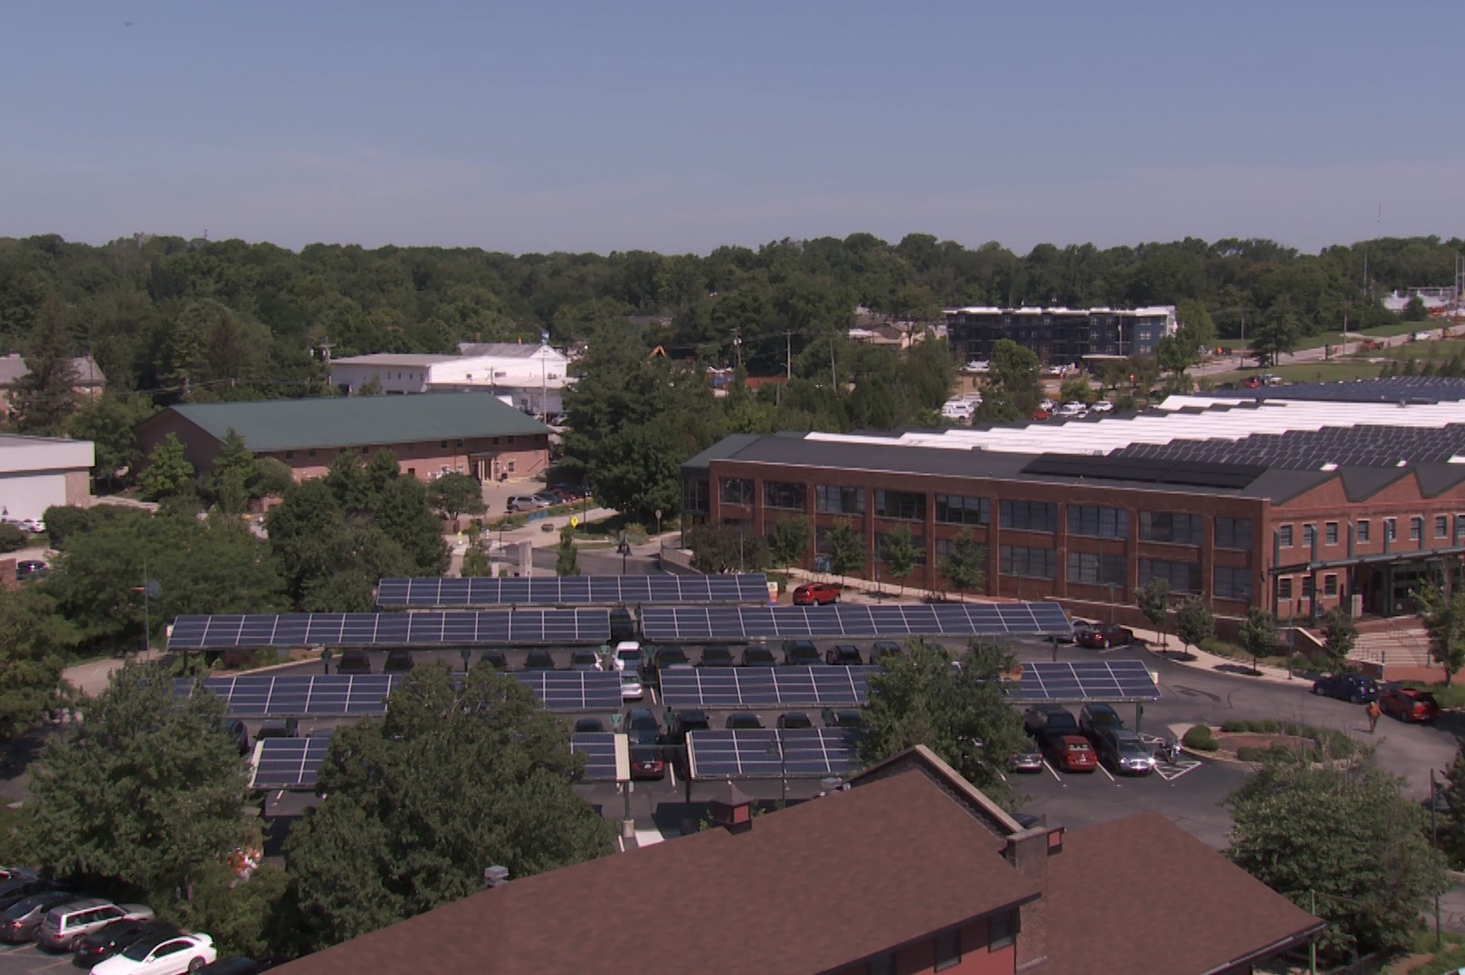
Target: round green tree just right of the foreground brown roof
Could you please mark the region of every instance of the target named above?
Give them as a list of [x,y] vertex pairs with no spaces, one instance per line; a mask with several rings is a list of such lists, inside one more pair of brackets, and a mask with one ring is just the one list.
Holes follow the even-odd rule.
[[1333,959],[1411,944],[1430,897],[1447,887],[1423,810],[1368,763],[1269,763],[1226,805],[1226,855],[1327,921]]

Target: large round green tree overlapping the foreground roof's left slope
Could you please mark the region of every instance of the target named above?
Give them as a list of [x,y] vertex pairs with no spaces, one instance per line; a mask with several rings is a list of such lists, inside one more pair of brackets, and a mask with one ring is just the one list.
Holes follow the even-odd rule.
[[611,852],[571,788],[582,761],[564,720],[491,666],[459,676],[419,666],[385,717],[331,739],[325,798],[286,843],[312,947],[460,900],[488,865],[523,878]]

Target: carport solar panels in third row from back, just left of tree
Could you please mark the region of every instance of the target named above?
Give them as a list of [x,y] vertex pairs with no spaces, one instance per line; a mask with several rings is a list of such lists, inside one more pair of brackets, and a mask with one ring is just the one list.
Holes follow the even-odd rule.
[[864,704],[879,668],[677,668],[661,675],[667,707],[763,709]]

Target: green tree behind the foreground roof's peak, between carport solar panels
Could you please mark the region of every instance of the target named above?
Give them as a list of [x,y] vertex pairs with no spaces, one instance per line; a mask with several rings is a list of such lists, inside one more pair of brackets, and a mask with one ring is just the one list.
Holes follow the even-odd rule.
[[1012,798],[1004,769],[1024,747],[1017,711],[1002,692],[1011,654],[976,646],[952,668],[951,654],[920,641],[886,654],[872,673],[860,758],[866,766],[926,745],[993,799]]

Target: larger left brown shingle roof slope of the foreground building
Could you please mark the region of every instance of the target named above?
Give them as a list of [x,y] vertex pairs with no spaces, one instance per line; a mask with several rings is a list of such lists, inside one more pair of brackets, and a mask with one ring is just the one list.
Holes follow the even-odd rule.
[[510,880],[280,971],[640,974],[665,949],[686,972],[819,972],[1034,899],[1002,846],[932,779],[902,773],[746,833]]

